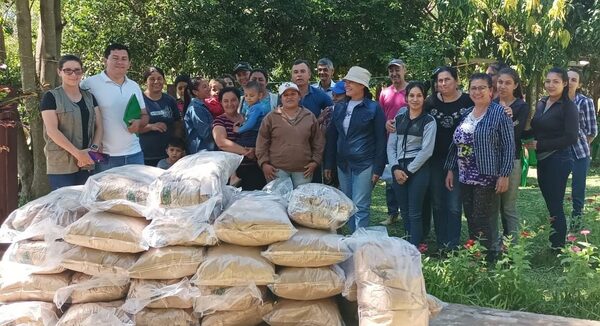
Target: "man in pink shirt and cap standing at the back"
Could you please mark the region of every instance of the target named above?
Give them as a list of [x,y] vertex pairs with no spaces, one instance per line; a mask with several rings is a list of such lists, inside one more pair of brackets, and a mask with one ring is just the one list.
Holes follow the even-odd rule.
[[[392,81],[392,85],[384,88],[379,95],[379,105],[383,109],[385,120],[394,120],[400,108],[406,106],[406,66],[400,59],[392,59],[388,63],[388,76]],[[381,222],[383,225],[389,225],[398,219],[398,203],[392,183],[385,183],[385,201],[387,203],[388,218]]]

